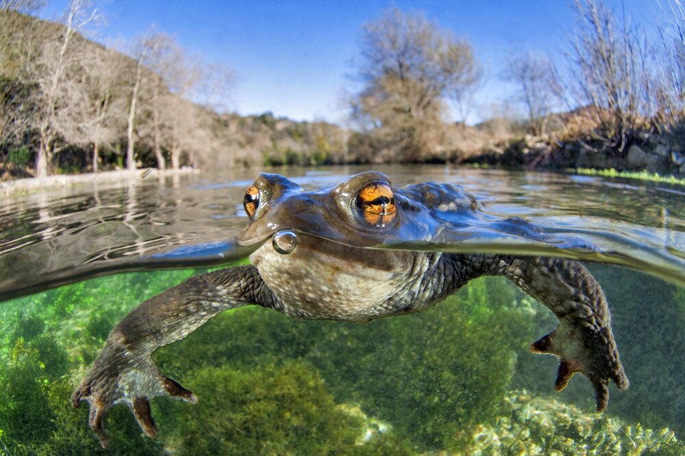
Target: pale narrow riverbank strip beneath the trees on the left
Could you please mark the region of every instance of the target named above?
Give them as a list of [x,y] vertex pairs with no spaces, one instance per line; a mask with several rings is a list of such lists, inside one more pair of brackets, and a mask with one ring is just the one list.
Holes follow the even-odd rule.
[[114,170],[102,173],[86,174],[60,174],[47,177],[29,177],[27,179],[14,179],[0,182],[0,196],[16,196],[49,190],[51,188],[64,188],[83,185],[86,183],[114,183],[119,181],[135,181],[142,179],[154,179],[155,177],[169,177],[199,173],[196,168],[181,168],[158,170],[156,168],[141,168],[136,170]]

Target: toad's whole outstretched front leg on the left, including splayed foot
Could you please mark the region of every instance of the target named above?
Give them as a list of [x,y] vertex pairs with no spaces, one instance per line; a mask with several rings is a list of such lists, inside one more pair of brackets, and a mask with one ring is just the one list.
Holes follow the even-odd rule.
[[160,346],[185,338],[214,315],[246,304],[273,307],[275,296],[254,266],[238,266],[191,277],[145,301],[116,325],[71,401],[90,403],[90,428],[103,448],[108,409],[125,403],[150,437],[157,435],[149,401],[170,396],[196,403],[197,397],[160,374],[151,355]]

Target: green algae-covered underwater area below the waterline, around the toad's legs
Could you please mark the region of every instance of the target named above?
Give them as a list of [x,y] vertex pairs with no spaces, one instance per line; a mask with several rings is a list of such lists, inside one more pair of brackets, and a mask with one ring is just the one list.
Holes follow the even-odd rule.
[[[644,307],[631,286],[646,282],[621,279],[617,268],[596,274],[619,316],[614,328],[619,349],[631,361],[631,389],[648,396],[632,407],[614,390],[610,413],[623,416],[619,424],[608,415],[586,412],[592,409],[592,392],[584,379],[573,379],[561,396],[580,409],[546,398],[556,360],[527,353],[527,345],[549,331],[555,319],[505,279],[487,277],[422,314],[366,324],[303,322],[259,307],[225,312],[154,354],[160,370],[193,390],[199,404],[152,401],[160,429],[155,440],[142,434],[127,407],[112,407],[105,427],[110,449],[101,450],[87,425],[86,404],[69,405],[71,391],[123,315],[197,272],[102,277],[3,303],[0,385],[7,394],[0,400],[1,451],[493,454],[492,442],[499,440],[509,448],[501,447],[501,454],[519,454],[514,449],[534,445],[556,451],[559,442],[595,454],[616,450],[616,442],[606,437],[610,432],[621,434],[619,454],[685,451],[672,431],[662,430],[680,418],[658,407],[661,392],[653,382],[636,381],[653,374],[651,368],[639,371],[645,364],[640,357],[653,355],[663,337],[645,327],[631,344],[626,332],[635,331],[625,318],[633,310],[621,307]],[[685,294],[656,279],[648,285],[652,280],[649,292],[663,294],[658,299],[664,321],[682,327]],[[540,398],[523,401],[525,394],[514,394],[513,388],[532,388]],[[547,416],[547,424],[526,434],[534,422],[525,416]]]

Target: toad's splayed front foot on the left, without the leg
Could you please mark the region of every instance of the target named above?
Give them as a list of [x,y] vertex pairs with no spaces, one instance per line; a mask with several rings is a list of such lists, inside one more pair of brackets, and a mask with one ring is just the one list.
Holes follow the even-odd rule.
[[123,347],[108,343],[71,395],[71,404],[78,407],[81,401],[90,403],[88,424],[101,446],[107,448],[109,440],[103,422],[114,404],[128,405],[142,430],[149,437],[157,436],[157,427],[150,414],[150,400],[157,396],[197,403],[195,394],[160,374],[151,357],[136,357]]

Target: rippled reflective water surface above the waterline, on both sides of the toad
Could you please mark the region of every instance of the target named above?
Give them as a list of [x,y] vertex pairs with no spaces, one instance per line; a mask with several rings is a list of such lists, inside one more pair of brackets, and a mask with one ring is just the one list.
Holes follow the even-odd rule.
[[[444,166],[378,169],[397,187],[428,180],[458,183],[488,214],[523,217],[547,233],[575,234],[604,254],[582,243],[569,250],[573,242],[536,245],[525,237],[507,238],[501,230],[483,229],[483,223],[469,229],[449,214],[439,236],[409,239],[403,233],[387,246],[510,253],[556,249],[548,253],[616,262],[685,283],[685,190],[680,187]],[[332,186],[360,170],[348,166],[277,172],[313,189]],[[0,299],[114,270],[221,264],[243,257],[245,249],[234,251],[229,243],[220,251],[216,242],[233,238],[247,223],[242,197],[256,174],[174,175],[5,198],[0,204]],[[204,254],[203,243],[208,243]],[[192,257],[176,253],[165,262],[155,256],[187,244],[198,246]]]

